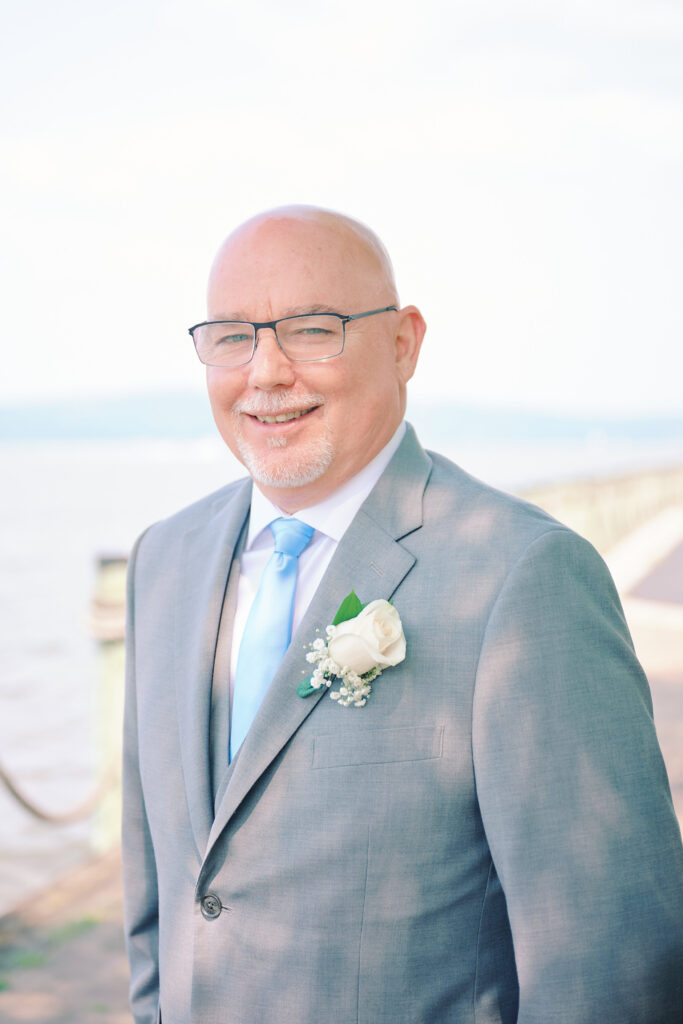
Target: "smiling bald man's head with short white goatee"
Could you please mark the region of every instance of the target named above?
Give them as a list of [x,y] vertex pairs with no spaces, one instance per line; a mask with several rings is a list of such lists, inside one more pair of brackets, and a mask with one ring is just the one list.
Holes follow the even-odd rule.
[[[397,306],[384,246],[342,214],[309,206],[270,210],[218,250],[207,316],[216,322],[215,346],[244,347],[246,340],[249,358],[250,337],[255,345],[248,362],[207,366],[211,408],[223,439],[283,510],[332,494],[400,424],[424,321],[414,306]],[[332,315],[290,319],[309,314]],[[295,332],[291,355],[273,330],[281,319],[288,321],[283,337]],[[254,324],[270,326],[254,335]],[[338,332],[337,354],[317,355],[330,332]]]

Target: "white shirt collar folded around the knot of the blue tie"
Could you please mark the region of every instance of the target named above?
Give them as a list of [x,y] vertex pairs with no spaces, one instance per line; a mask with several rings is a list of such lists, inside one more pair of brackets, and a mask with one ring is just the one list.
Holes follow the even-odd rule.
[[[373,489],[384,470],[389,465],[391,457],[403,439],[405,433],[405,423],[402,422],[394,433],[388,444],[384,447],[372,462],[352,476],[350,480],[342,483],[333,494],[329,495],[317,505],[300,509],[296,513],[296,518],[308,523],[313,529],[333,541],[339,542],[348,527],[351,520],[365,502],[366,498]],[[263,535],[263,530],[273,519],[287,517],[272,502],[261,493],[258,484],[252,489],[251,514],[249,517],[249,531],[245,549],[254,547],[265,547],[271,543],[269,534]],[[263,536],[262,536],[263,535]]]

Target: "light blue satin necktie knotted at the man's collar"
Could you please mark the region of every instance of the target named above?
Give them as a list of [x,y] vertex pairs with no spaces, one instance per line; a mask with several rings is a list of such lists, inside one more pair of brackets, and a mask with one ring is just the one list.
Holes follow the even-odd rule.
[[270,523],[275,548],[263,570],[240,644],[230,718],[230,760],[249,732],[292,639],[298,558],[313,527],[298,519]]

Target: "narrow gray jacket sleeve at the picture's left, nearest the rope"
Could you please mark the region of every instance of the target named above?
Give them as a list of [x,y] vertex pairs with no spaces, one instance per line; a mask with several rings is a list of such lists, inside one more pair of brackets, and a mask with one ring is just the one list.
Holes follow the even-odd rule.
[[139,776],[135,681],[135,564],[141,540],[128,563],[122,852],[130,1004],[136,1024],[155,1024],[159,1008],[157,868]]

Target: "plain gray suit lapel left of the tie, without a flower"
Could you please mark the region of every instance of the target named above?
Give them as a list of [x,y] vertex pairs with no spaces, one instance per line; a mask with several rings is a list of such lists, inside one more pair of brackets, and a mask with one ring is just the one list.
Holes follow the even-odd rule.
[[183,538],[176,601],[175,686],[182,771],[200,859],[213,820],[209,723],[218,624],[232,553],[249,512],[251,485]]

